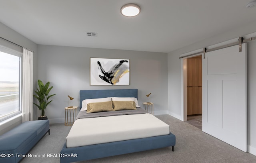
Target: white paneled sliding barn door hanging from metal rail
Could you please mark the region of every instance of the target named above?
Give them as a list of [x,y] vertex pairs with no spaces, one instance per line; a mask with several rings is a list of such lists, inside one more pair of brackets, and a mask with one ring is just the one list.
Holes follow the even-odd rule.
[[246,43],[202,59],[202,131],[247,152]]

